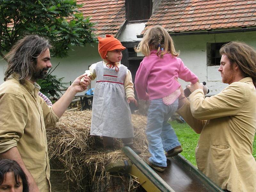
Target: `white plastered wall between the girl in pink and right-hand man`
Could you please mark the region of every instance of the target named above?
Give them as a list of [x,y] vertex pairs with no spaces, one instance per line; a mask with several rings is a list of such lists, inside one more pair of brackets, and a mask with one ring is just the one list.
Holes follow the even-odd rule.
[[[256,49],[256,32],[239,32],[211,35],[172,36],[175,49],[180,50],[180,58],[194,72],[200,82],[205,81],[209,94],[217,94],[228,84],[221,82],[219,66],[207,66],[207,43],[243,41]],[[181,80],[184,87],[187,83]]]

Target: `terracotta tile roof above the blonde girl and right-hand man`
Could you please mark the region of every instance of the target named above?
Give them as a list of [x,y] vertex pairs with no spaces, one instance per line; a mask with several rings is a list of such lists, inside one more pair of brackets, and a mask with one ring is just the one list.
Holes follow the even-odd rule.
[[169,33],[256,26],[256,1],[162,0],[145,30],[154,25]]

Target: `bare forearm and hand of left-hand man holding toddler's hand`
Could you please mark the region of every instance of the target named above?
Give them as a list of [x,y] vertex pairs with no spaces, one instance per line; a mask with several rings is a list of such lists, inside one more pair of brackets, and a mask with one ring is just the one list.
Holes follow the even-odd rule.
[[[84,80],[80,83],[83,77]],[[64,93],[64,95],[52,105],[52,110],[54,113],[58,117],[61,117],[65,110],[68,108],[68,105],[71,103],[76,93],[85,91],[90,83],[90,77],[85,74],[77,77],[76,80],[68,87],[68,90]]]

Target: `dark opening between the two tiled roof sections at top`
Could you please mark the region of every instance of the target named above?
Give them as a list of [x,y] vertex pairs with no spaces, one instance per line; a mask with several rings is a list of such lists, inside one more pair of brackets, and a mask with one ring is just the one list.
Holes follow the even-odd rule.
[[152,0],[126,0],[127,21],[148,20],[152,14]]

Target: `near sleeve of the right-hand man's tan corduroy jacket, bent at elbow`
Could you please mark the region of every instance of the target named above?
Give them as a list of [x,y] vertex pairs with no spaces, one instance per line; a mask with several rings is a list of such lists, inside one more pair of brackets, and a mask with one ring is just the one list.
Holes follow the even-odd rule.
[[247,99],[245,85],[235,82],[220,93],[206,98],[202,89],[191,86],[194,89],[189,96],[191,113],[195,118],[203,120],[236,115]]

